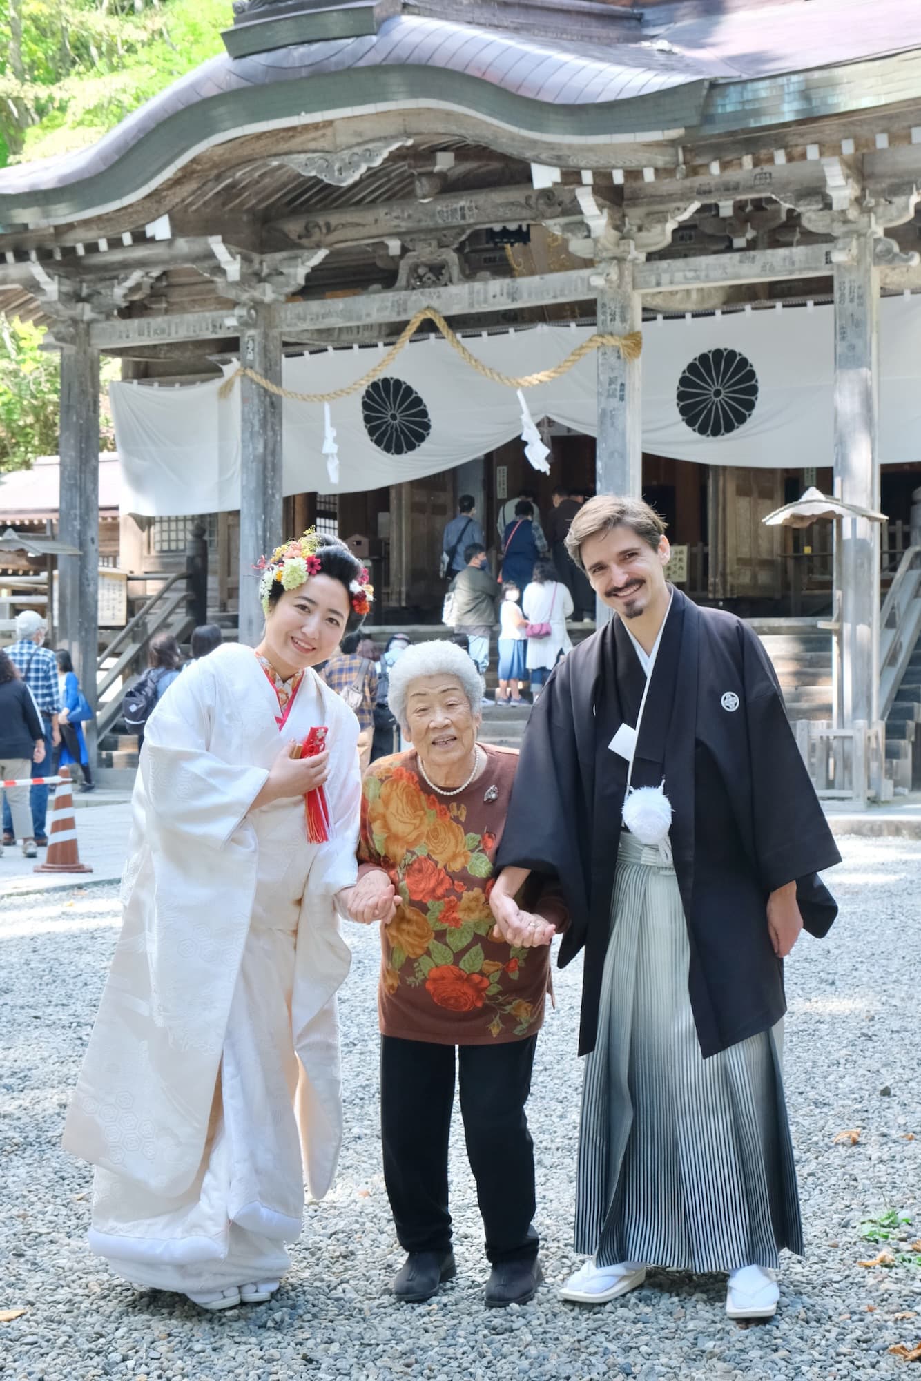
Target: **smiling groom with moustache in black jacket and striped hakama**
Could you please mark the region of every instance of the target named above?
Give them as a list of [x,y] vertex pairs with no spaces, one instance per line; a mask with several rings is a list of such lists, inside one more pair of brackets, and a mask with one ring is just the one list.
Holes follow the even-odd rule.
[[585,950],[576,1246],[591,1258],[562,1295],[603,1304],[648,1266],[724,1271],[728,1315],[769,1317],[768,1272],[802,1251],[783,958],[804,924],[827,934],[816,874],[840,855],[758,638],[666,581],[659,515],[599,496],[566,547],[614,617],[534,706],[492,895],[507,940],[548,943],[514,895],[530,870],[559,877],[561,964]]

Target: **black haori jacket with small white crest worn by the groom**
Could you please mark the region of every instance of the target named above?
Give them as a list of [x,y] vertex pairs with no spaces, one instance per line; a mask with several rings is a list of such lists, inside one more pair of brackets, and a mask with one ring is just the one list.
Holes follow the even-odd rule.
[[[496,869],[559,877],[572,917],[561,967],[585,949],[579,1052],[594,1048],[610,931],[627,762],[608,744],[635,725],[645,674],[620,619],[551,675],[522,744]],[[841,855],[791,733],[773,667],[733,615],[672,590],[639,729],[632,786],[672,805],[671,845],[688,921],[688,989],[704,1056],[786,1011],[768,895],[797,881],[805,928],[837,906],[816,873]]]

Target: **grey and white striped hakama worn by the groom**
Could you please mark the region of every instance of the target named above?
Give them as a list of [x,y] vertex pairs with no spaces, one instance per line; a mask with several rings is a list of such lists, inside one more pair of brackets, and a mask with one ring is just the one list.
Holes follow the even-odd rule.
[[623,833],[595,1050],[585,1061],[576,1250],[684,1271],[802,1254],[773,1032],[703,1059],[671,865]]

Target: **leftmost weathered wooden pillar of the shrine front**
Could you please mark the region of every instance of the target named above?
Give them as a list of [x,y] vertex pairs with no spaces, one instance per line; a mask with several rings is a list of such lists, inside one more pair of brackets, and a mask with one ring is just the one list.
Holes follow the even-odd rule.
[[[61,540],[80,548],[58,561],[58,644],[73,657],[83,693],[95,707],[99,655],[99,352],[76,322],[61,347]],[[93,721],[95,724],[95,721]],[[93,729],[93,724],[87,728]],[[87,739],[94,755],[93,733]]]

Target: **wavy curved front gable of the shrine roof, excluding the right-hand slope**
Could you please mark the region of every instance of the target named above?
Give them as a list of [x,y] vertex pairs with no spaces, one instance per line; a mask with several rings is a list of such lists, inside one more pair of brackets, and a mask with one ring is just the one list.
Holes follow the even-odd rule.
[[[559,52],[521,35],[399,15],[366,37],[213,58],[91,148],[0,171],[0,222],[87,214],[87,192],[65,189],[76,193],[90,178],[97,181],[90,196],[98,211],[168,175],[203,144],[320,113],[352,113],[347,102],[355,98],[358,72],[362,101],[371,108],[440,99],[563,139],[661,130],[663,119],[670,127],[693,123],[706,76],[696,61],[652,46],[612,44],[603,52],[574,46]],[[678,94],[670,99],[671,93]],[[650,126],[648,105],[657,95],[664,99],[656,101],[659,123]],[[630,116],[614,113],[624,104]],[[573,120],[573,112],[583,117]],[[151,141],[157,148],[144,156]],[[106,180],[128,155],[137,163],[134,175]]]

